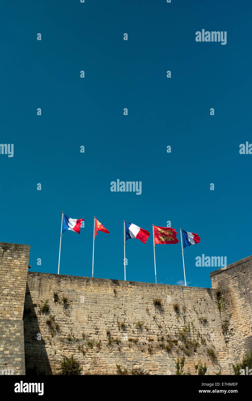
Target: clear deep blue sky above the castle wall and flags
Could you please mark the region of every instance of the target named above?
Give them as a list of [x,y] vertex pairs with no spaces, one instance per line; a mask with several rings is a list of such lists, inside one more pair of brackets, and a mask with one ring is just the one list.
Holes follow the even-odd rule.
[[[95,239],[94,276],[124,279],[123,220],[151,234],[171,221],[179,243],[156,245],[157,282],[183,280],[182,227],[201,237],[184,253],[186,279],[201,287],[216,268],[196,267],[197,256],[250,255],[252,155],[239,145],[252,143],[251,11],[217,0],[5,1],[0,142],[14,156],[0,154],[0,241],[30,244],[32,271],[57,273],[61,212],[84,218],[81,235],[63,234],[60,273],[91,276],[96,215],[110,234]],[[227,31],[227,44],[197,43],[203,28]],[[117,178],[141,181],[141,195],[111,192]],[[152,236],[128,240],[126,257],[126,279],[155,282]]]

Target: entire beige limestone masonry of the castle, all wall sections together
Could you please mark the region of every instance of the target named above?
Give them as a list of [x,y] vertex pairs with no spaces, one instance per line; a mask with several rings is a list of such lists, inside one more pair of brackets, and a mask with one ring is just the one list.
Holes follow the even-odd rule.
[[[210,274],[214,288],[28,272],[29,245],[0,243],[0,370],[54,374],[73,355],[83,374],[141,367],[233,375],[252,351],[252,256]],[[11,373],[10,373],[11,374]]]

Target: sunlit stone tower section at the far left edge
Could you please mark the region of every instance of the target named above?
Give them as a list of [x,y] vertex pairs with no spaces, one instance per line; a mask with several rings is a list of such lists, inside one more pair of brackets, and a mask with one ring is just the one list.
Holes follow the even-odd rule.
[[25,374],[23,311],[29,254],[30,245],[0,242],[0,370],[14,375]]

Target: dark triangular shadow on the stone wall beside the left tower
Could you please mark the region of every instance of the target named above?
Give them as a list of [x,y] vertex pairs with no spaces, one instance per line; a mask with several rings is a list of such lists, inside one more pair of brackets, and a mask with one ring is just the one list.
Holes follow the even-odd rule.
[[[27,283],[23,320],[26,375],[52,375],[45,342],[40,332],[38,319]],[[41,335],[41,340],[38,340],[39,334]]]

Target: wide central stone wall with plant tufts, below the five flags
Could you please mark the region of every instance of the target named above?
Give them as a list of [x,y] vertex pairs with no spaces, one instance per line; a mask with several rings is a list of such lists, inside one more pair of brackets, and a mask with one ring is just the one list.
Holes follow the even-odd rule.
[[29,272],[24,327],[27,371],[55,373],[74,355],[85,373],[115,373],[118,364],[166,375],[185,354],[184,371],[195,374],[201,360],[208,374],[232,373],[209,288]]

